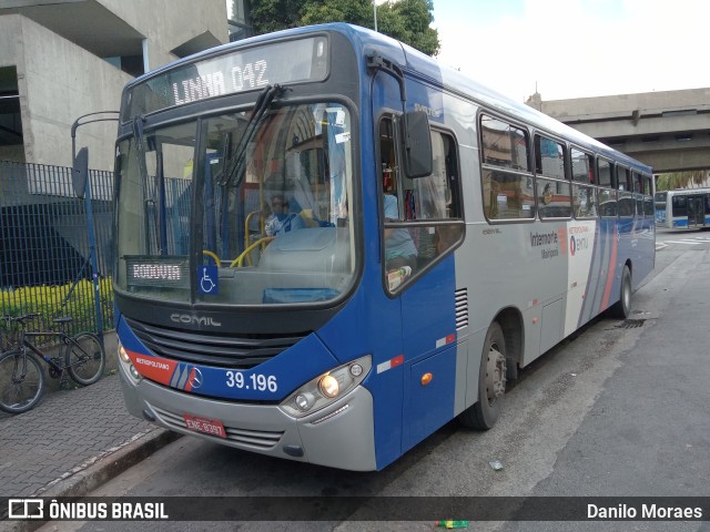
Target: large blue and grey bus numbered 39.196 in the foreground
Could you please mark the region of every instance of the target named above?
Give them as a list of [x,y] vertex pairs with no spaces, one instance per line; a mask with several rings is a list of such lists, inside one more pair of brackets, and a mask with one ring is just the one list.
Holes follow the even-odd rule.
[[333,468],[490,429],[653,268],[650,167],[343,23],[130,82],[115,174],[129,411]]

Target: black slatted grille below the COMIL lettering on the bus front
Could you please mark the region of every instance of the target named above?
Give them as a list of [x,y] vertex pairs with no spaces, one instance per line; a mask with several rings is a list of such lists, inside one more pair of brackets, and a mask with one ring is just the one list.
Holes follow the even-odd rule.
[[125,321],[159,357],[236,369],[258,366],[310,334],[225,336],[156,327],[128,318]]

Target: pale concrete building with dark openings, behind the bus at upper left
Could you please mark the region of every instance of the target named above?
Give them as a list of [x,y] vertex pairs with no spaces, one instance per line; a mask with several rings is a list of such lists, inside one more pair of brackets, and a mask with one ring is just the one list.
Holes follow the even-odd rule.
[[[229,42],[231,3],[0,0],[0,161],[70,166],[74,121],[118,111],[134,76]],[[77,130],[90,167],[113,170],[115,131]]]

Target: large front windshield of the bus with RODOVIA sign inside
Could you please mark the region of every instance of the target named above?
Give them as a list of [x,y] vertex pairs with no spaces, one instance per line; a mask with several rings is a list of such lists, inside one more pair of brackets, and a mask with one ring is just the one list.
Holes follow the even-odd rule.
[[116,288],[176,303],[335,299],[353,283],[351,113],[278,105],[118,146]]

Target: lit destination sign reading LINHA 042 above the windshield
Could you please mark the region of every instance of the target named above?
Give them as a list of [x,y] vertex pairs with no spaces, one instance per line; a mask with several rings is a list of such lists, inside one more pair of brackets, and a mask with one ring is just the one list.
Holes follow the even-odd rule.
[[181,64],[131,88],[124,94],[122,122],[161,109],[266,85],[326,78],[327,39],[311,37],[264,44]]

